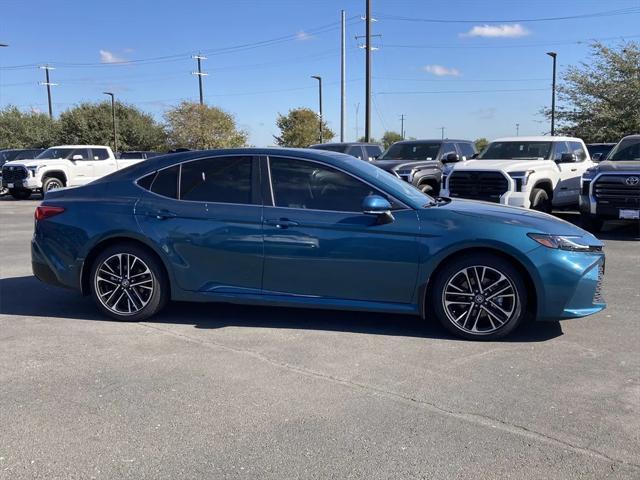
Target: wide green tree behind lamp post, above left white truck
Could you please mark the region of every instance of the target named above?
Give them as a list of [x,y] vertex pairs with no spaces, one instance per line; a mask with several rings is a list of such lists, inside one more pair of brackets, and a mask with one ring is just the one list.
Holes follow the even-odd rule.
[[[162,125],[132,105],[116,102],[118,150],[165,150]],[[81,103],[60,115],[57,143],[113,147],[111,102]]]

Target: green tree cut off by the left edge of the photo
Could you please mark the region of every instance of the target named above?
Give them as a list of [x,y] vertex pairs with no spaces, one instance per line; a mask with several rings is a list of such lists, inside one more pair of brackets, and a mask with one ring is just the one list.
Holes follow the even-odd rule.
[[21,112],[8,106],[0,110],[0,148],[46,148],[55,144],[58,123],[48,115]]

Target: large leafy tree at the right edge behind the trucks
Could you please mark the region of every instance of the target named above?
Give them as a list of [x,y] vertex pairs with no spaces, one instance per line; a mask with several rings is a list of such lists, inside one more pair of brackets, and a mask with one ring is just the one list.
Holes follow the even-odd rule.
[[[640,131],[640,45],[591,45],[590,58],[571,66],[558,86],[556,131],[585,142],[612,142]],[[547,118],[551,110],[544,109]]]

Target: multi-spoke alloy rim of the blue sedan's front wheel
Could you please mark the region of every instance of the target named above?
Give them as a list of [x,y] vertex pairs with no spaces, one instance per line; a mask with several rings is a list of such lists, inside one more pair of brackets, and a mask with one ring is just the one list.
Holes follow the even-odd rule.
[[442,306],[453,325],[474,335],[489,335],[509,323],[518,306],[513,281],[495,268],[465,267],[454,273],[442,293]]

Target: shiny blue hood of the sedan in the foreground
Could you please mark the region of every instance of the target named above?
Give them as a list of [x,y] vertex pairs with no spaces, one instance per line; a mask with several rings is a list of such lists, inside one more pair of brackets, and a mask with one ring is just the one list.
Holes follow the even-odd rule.
[[473,200],[451,200],[441,206],[426,207],[420,215],[428,217],[428,210],[438,209],[447,214],[454,213],[470,222],[476,222],[480,230],[491,229],[491,224],[511,225],[527,230],[527,233],[548,233],[554,235],[579,236],[589,239],[590,245],[602,245],[602,242],[589,232],[546,213],[520,207],[510,207],[489,202]]

